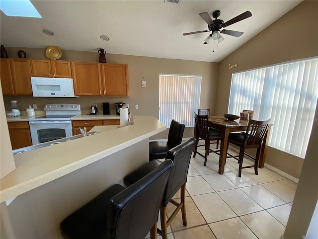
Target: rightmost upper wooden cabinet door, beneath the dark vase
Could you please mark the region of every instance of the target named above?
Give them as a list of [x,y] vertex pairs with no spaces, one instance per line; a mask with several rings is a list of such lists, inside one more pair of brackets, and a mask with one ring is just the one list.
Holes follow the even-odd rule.
[[128,65],[101,64],[105,96],[129,96]]

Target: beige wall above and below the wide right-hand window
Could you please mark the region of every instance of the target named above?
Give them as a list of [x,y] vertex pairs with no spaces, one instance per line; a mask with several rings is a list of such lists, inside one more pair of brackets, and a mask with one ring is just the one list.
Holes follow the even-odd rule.
[[[303,1],[219,65],[215,115],[227,113],[232,73],[318,55],[318,1]],[[238,64],[228,69],[228,65]],[[275,127],[275,125],[274,125]],[[266,163],[299,178],[304,159],[269,147]]]

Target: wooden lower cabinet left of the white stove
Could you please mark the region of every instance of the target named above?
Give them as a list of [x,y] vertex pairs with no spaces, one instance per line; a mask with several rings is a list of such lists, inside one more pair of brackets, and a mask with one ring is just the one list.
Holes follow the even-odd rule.
[[32,145],[29,122],[8,122],[12,149]]

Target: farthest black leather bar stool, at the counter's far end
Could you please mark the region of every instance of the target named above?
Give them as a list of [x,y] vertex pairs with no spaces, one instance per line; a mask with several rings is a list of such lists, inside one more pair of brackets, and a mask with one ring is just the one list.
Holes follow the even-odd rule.
[[165,158],[165,155],[169,149],[180,144],[182,141],[184,127],[184,124],[172,119],[168,134],[168,141],[149,142],[149,161]]

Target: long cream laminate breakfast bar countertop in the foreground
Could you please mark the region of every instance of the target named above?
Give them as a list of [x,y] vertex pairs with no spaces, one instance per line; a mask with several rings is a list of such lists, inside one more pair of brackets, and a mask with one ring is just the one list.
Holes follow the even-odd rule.
[[[14,155],[16,169],[0,180],[0,202],[30,191],[145,140],[166,126],[152,116],[135,116],[125,127],[96,127],[87,137]],[[98,130],[97,130],[98,129]]]

